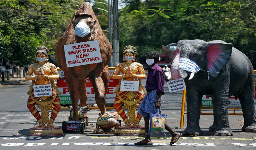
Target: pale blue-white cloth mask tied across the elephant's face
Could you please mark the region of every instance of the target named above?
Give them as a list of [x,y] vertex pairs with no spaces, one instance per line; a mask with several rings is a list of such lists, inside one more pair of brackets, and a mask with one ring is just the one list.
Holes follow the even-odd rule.
[[187,58],[180,58],[179,61],[179,70],[184,70],[187,72],[197,73],[200,67],[197,65],[196,62]]

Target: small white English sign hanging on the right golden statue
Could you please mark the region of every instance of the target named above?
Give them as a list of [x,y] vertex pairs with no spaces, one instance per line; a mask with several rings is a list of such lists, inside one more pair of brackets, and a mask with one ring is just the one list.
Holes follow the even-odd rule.
[[120,91],[139,91],[139,81],[121,80]]

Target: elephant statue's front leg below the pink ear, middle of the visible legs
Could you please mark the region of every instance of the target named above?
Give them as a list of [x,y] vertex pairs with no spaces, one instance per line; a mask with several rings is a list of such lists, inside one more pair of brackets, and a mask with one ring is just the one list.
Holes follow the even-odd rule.
[[233,136],[233,132],[231,131],[228,123],[228,90],[224,92],[218,91],[214,95],[214,111],[215,111],[215,120],[216,120],[216,128],[212,135],[214,136]]

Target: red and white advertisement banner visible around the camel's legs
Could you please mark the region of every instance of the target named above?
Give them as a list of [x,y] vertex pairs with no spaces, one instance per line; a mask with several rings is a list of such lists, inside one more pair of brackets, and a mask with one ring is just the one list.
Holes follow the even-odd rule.
[[[118,79],[110,79],[108,91],[106,95],[106,103],[114,103],[115,101],[115,94],[114,91],[116,90],[116,85],[118,85]],[[71,99],[69,97],[69,89],[65,79],[58,79],[58,90],[62,93],[59,95],[59,100],[62,104],[71,104]],[[86,79],[86,93],[88,96],[87,104],[95,104],[95,94],[94,89],[92,88],[91,81]]]

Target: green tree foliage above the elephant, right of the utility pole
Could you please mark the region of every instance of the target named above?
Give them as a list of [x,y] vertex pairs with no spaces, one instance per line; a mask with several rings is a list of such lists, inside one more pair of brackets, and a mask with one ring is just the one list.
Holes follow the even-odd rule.
[[[126,17],[120,18],[120,29],[126,33],[120,36],[122,47],[132,44],[145,54],[161,52],[162,44],[183,39],[223,40],[255,57],[255,0],[146,0],[132,11],[129,4],[137,0],[125,1]],[[127,28],[124,23],[129,21],[134,24]]]

